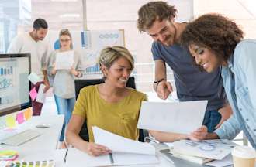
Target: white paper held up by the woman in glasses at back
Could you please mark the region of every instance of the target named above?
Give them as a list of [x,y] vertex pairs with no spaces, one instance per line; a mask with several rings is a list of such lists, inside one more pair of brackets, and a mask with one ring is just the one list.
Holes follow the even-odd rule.
[[56,55],[55,68],[56,70],[70,70],[74,63],[74,50],[59,52]]

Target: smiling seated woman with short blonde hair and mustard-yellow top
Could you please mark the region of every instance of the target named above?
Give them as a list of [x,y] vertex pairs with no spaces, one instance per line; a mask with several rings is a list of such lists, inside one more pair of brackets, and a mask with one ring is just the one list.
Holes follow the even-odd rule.
[[[81,89],[67,126],[67,142],[89,155],[104,155],[109,148],[94,143],[92,126],[98,126],[125,138],[137,140],[137,121],[140,104],[146,94],[126,87],[134,67],[133,56],[121,46],[106,47],[99,56],[100,70],[105,83]],[[87,121],[89,142],[79,137]]]

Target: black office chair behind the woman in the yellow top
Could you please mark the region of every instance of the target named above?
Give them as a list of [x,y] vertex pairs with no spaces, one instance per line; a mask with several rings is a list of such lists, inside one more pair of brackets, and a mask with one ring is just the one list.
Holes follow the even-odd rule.
[[[87,86],[95,85],[95,84],[100,84],[100,83],[104,83],[104,80],[102,80],[102,79],[74,80],[75,97],[78,98],[78,94],[79,94],[80,90],[81,90],[83,87],[87,87]],[[130,78],[128,79],[126,86],[127,86],[127,87],[131,87],[131,88],[133,88],[133,89],[136,89],[134,77],[130,77]],[[85,121],[84,124],[82,125],[81,131],[80,131],[79,135],[80,135],[80,137],[81,137],[83,140],[89,141],[89,136],[88,136],[88,130],[87,130],[86,121]],[[140,129],[139,141],[143,141],[143,142],[144,142],[144,135],[147,135],[147,131],[143,131],[142,129]]]

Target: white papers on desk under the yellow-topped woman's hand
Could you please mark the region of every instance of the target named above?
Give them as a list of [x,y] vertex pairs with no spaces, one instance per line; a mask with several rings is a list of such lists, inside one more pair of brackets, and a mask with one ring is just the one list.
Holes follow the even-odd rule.
[[108,166],[108,165],[148,165],[159,163],[155,148],[149,143],[133,141],[112,134],[98,127],[92,127],[95,143],[112,150],[111,155],[90,156],[76,148],[69,148],[66,167]]

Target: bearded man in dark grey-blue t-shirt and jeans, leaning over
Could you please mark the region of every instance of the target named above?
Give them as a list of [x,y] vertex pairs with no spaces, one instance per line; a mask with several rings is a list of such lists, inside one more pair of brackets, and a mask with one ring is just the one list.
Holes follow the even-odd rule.
[[[138,12],[137,28],[154,39],[151,48],[155,62],[154,90],[161,99],[172,92],[171,83],[166,80],[167,63],[174,72],[179,101],[208,100],[203,124],[214,131],[232,114],[230,105],[226,104],[220,69],[206,73],[192,63],[189,50],[179,44],[186,23],[175,22],[176,12],[174,6],[161,1],[148,2]],[[161,131],[150,131],[150,134],[158,141],[189,138]]]

